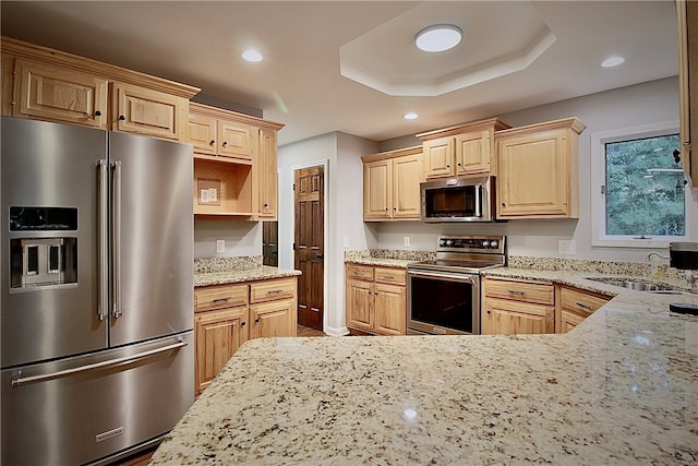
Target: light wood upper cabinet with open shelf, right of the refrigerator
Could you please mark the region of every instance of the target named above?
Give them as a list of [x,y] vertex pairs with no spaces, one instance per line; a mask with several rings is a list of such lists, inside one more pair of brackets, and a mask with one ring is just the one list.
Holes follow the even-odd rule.
[[281,128],[281,123],[190,103],[194,214],[276,219]]

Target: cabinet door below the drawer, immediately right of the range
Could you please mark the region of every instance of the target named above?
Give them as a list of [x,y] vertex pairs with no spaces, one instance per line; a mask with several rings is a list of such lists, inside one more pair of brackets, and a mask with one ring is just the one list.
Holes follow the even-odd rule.
[[488,298],[482,333],[486,335],[542,334],[555,331],[555,308]]

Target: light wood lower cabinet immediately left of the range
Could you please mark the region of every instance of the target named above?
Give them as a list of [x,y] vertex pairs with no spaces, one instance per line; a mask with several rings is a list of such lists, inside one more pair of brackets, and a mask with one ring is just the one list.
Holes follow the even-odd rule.
[[407,271],[346,265],[347,327],[376,335],[407,332]]

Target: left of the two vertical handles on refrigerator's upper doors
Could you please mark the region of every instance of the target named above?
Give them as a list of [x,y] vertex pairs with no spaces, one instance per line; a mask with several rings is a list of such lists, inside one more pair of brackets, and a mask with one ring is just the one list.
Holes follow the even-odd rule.
[[99,170],[97,181],[97,268],[98,268],[98,290],[97,290],[97,319],[104,321],[109,313],[109,241],[108,241],[108,218],[107,211],[109,208],[109,180],[108,180],[108,162],[99,159],[95,164]]

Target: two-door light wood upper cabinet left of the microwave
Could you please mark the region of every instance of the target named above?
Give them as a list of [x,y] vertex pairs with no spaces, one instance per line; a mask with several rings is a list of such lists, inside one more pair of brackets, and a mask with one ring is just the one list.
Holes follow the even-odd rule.
[[419,220],[422,147],[361,157],[363,220]]

